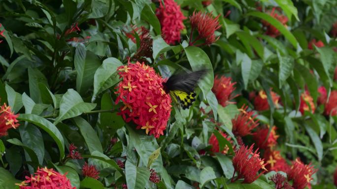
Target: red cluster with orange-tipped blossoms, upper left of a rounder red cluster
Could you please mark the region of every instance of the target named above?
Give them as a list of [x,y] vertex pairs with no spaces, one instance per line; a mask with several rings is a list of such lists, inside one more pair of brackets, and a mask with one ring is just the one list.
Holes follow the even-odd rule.
[[232,119],[232,131],[236,136],[251,135],[251,131],[259,125],[259,120],[254,120],[257,115],[253,115],[253,111],[247,111],[247,108],[243,105],[238,109],[240,113]]

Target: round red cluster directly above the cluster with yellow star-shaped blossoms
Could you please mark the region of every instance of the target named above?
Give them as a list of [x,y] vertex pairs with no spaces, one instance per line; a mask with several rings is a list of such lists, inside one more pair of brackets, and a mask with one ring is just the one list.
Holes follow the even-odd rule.
[[[273,126],[269,133],[269,128],[258,129],[257,132],[253,133],[253,138],[256,141],[256,144],[261,149],[271,149],[277,144],[278,135],[276,135],[276,127]],[[269,134],[269,135],[268,135]]]

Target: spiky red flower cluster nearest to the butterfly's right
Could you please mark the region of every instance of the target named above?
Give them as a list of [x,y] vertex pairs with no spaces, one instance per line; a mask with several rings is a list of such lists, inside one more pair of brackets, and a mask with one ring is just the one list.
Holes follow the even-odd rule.
[[232,82],[230,77],[221,76],[218,78],[218,76],[215,76],[212,91],[221,106],[226,107],[231,104],[232,99],[238,96],[232,94],[236,89],[235,84],[236,82]]

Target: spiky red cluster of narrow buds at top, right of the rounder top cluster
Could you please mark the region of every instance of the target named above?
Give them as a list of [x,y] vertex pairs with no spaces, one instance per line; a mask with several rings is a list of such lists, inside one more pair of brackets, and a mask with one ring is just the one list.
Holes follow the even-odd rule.
[[[210,45],[214,43],[216,40],[219,39],[219,37],[215,37],[215,30],[219,29],[221,26],[219,24],[219,19],[220,14],[213,19],[212,13],[202,13],[199,11],[196,13],[196,11],[193,12],[193,15],[190,16],[190,21],[191,21],[191,35],[190,35],[190,45],[194,45],[195,42],[197,42],[200,39],[204,39],[204,43],[196,45],[196,46],[201,46],[201,45]],[[192,35],[193,35],[193,30],[197,29],[198,30],[198,37],[192,41]]]

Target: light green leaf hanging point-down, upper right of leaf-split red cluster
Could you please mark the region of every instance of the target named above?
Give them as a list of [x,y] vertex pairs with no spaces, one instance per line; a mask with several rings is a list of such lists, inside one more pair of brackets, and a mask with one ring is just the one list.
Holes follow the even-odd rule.
[[279,61],[278,81],[279,88],[281,88],[294,69],[294,58],[292,56],[282,56],[278,51],[277,57]]

